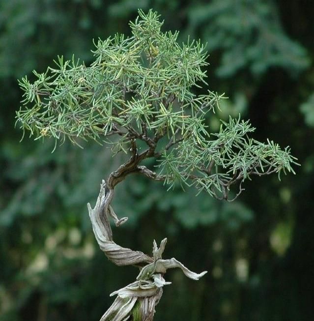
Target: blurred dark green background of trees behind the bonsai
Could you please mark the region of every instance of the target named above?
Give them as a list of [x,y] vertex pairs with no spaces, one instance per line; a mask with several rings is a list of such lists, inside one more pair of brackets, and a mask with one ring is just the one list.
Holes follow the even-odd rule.
[[156,321],[314,320],[314,3],[310,0],[0,0],[0,321],[98,321],[109,294],[137,270],[98,249],[86,203],[123,155],[89,143],[19,143],[17,78],[42,72],[57,55],[88,63],[92,39],[129,34],[137,9],[153,8],[164,30],[207,42],[209,88],[226,92],[228,115],[250,118],[255,137],[289,145],[302,167],[245,184],[233,203],[196,191],[166,191],[130,176],[114,209],[129,222],[118,244],[208,274],[194,282],[167,273]]

